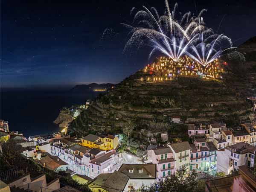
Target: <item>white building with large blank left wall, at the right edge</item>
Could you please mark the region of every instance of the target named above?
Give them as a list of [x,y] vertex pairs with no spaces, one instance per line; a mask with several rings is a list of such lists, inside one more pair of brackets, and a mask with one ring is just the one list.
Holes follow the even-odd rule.
[[256,147],[248,143],[240,142],[229,145],[217,152],[217,172],[224,172],[226,175],[238,170],[239,166],[254,166]]

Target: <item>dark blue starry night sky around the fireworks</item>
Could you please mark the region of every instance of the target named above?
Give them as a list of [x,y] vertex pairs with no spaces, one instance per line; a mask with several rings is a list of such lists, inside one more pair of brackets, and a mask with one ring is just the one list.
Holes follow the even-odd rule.
[[[54,2],[54,3],[51,3]],[[132,7],[164,0],[1,0],[1,87],[72,87],[118,83],[147,64],[146,50],[124,55],[127,40],[120,22],[131,21]],[[255,0],[180,0],[179,12],[206,8],[208,27],[235,45],[256,35]],[[175,1],[169,1],[173,8]],[[103,39],[106,28],[118,34]],[[241,38],[241,39],[240,39]],[[240,39],[236,41],[237,39]]]

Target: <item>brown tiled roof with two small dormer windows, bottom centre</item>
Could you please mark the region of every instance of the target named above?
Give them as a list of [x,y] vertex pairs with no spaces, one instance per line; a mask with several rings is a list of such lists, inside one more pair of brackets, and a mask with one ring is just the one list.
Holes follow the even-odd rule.
[[[133,172],[129,172],[132,170]],[[142,173],[139,170],[143,170]],[[131,179],[155,179],[157,173],[156,164],[148,163],[148,164],[122,164],[119,168],[118,172],[122,172],[125,175],[128,175]]]

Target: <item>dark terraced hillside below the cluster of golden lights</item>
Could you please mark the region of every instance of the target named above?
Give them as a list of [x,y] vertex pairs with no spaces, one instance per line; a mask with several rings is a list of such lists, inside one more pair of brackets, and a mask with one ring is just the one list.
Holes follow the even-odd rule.
[[180,76],[146,82],[140,81],[144,70],[139,70],[96,99],[72,122],[72,130],[118,133],[132,124],[137,131],[167,131],[172,116],[181,116],[186,123],[247,119],[251,104],[246,96],[256,89],[255,63],[241,65],[239,74],[231,66],[222,66],[221,80]]

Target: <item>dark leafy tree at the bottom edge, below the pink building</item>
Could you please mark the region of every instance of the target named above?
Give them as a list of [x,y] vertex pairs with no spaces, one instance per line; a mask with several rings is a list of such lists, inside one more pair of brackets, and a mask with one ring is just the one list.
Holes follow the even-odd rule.
[[164,177],[156,184],[143,186],[140,192],[198,192],[197,173],[187,172],[185,169]]

